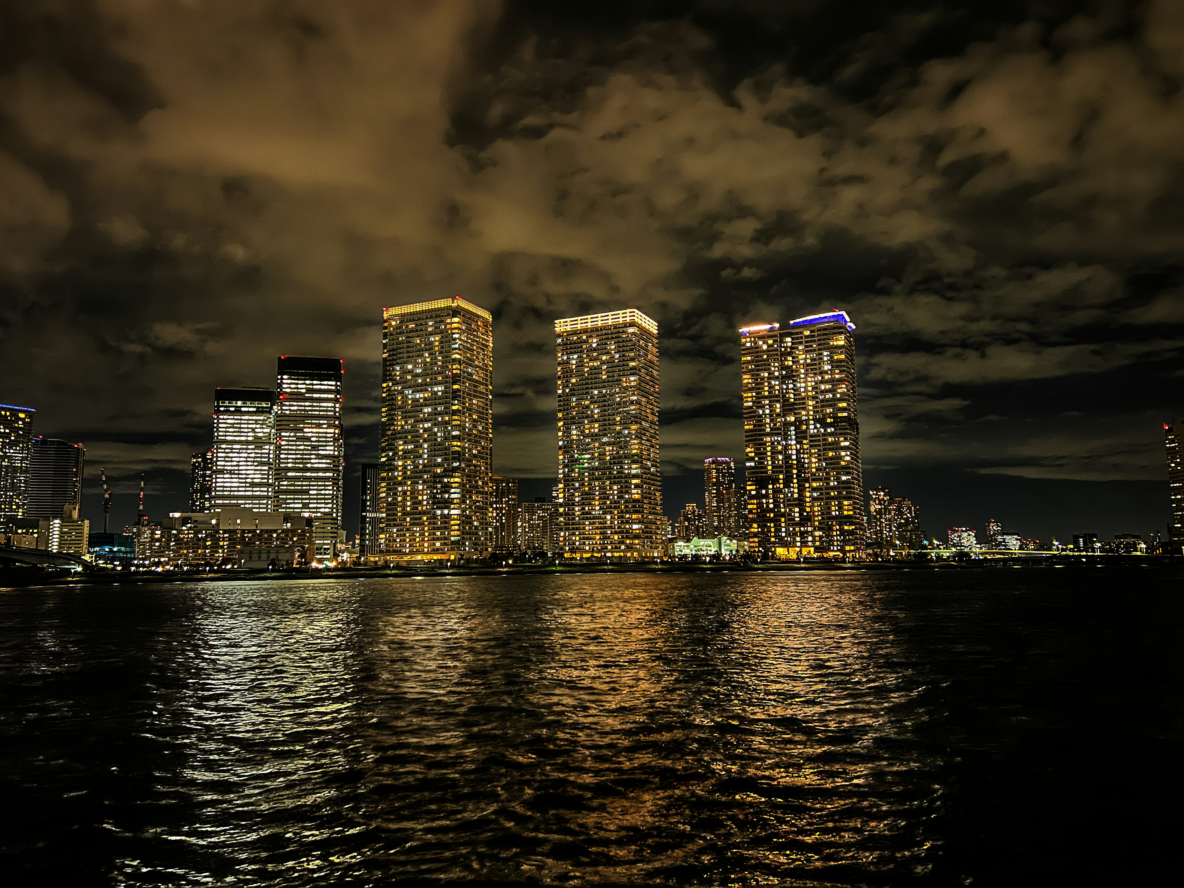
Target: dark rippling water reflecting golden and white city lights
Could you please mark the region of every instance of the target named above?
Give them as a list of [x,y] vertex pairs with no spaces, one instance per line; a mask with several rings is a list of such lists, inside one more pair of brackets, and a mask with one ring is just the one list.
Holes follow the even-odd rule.
[[1156,570],[0,593],[6,882],[1137,884]]

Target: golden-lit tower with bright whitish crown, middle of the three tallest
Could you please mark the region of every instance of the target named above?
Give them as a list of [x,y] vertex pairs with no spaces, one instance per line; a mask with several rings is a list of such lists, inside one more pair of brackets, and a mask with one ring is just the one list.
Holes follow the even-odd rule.
[[658,326],[637,309],[555,321],[559,551],[656,560],[665,519],[658,463]]

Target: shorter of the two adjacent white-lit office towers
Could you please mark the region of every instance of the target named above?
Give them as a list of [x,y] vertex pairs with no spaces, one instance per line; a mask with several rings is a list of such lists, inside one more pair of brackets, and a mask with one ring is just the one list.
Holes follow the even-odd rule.
[[271,511],[275,501],[276,393],[270,388],[214,392],[211,508]]

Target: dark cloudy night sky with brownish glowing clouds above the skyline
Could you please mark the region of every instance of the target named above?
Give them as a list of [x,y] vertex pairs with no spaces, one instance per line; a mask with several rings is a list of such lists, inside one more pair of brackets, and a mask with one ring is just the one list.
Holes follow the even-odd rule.
[[1184,4],[0,4],[0,401],[130,517],[217,385],[494,313],[495,469],[554,475],[555,317],[662,329],[668,503],[740,457],[744,322],[845,308],[863,465],[928,534],[1146,534],[1184,413]]

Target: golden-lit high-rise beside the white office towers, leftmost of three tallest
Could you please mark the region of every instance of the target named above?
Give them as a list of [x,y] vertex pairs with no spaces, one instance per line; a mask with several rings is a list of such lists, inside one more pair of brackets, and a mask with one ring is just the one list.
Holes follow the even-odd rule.
[[493,317],[459,296],[384,309],[384,555],[489,551]]

